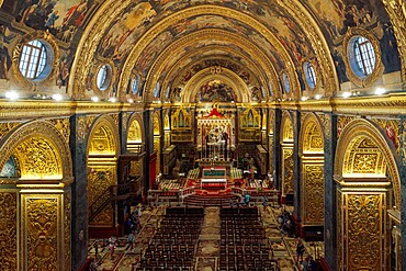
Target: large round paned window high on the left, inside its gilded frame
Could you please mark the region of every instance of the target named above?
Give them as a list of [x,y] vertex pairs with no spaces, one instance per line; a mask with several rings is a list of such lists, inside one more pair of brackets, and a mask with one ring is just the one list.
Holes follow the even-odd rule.
[[19,69],[30,80],[43,80],[49,76],[54,54],[49,44],[34,39],[23,46]]

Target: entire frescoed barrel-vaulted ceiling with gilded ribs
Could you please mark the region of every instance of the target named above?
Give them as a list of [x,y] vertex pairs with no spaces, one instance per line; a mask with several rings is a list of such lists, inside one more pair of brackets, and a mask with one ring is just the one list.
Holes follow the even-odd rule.
[[[11,58],[27,38],[46,36],[57,44],[55,75],[30,82],[30,89],[66,89],[75,100],[98,94],[121,101],[198,102],[194,89],[201,86],[193,83],[211,80],[234,82],[238,88],[234,91],[240,92],[236,102],[334,97],[351,80],[345,45],[348,33],[359,29],[376,37],[383,67],[379,76],[405,74],[406,9],[401,0],[0,0],[0,4]],[[315,68],[314,89],[305,83],[304,63]],[[101,91],[95,77],[105,64],[112,67],[112,78],[109,89]],[[21,87],[21,78],[13,75],[10,69],[10,86]]]

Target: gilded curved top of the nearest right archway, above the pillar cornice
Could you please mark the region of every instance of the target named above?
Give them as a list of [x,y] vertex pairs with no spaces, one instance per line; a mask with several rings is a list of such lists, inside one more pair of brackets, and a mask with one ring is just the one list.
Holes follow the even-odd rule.
[[[368,139],[368,143],[363,142],[363,139]],[[351,147],[354,146],[370,146],[370,148],[364,148],[363,151],[358,151],[357,148],[351,149]],[[371,146],[376,146],[374,151],[371,151]],[[354,158],[357,154],[359,155],[357,160],[358,162],[354,163],[353,160],[350,160],[350,157]],[[374,157],[371,158],[371,156]],[[383,171],[385,171],[384,174],[386,177],[391,177],[390,181],[392,181],[394,189],[395,205],[401,206],[399,171],[397,168],[396,158],[387,145],[384,135],[380,132],[377,126],[368,120],[357,118],[351,121],[346,128],[343,128],[337,142],[334,165],[335,180],[339,182],[346,182],[343,174],[348,171],[347,169],[356,168],[357,170],[363,170],[364,168],[371,168],[372,165],[376,166],[375,172],[379,173],[377,177],[382,176]],[[383,168],[386,169],[384,170]]]

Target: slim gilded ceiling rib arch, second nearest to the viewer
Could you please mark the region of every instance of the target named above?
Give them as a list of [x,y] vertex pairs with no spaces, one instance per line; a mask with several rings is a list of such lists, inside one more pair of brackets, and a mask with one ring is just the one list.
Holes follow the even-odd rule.
[[198,7],[192,7],[192,8],[181,10],[174,14],[171,14],[165,18],[159,23],[155,24],[147,33],[145,33],[138,39],[137,44],[134,46],[134,49],[129,53],[129,56],[127,57],[125,61],[119,89],[126,89],[125,87],[129,80],[129,76],[131,76],[133,67],[135,66],[136,61],[138,60],[144,49],[148,46],[148,44],[150,44],[156,38],[156,36],[160,33],[160,30],[166,30],[170,25],[173,25],[179,21],[182,21],[187,18],[200,15],[200,14],[217,14],[217,15],[226,14],[228,18],[241,21],[243,23],[257,30],[257,32],[262,33],[263,36],[269,41],[269,43],[275,46],[275,50],[277,50],[275,54],[280,55],[283,61],[285,63],[287,67],[289,76],[290,78],[292,78],[292,89],[293,90],[300,89],[297,76],[296,76],[295,68],[294,68],[291,56],[289,55],[286,48],[284,48],[282,43],[273,35],[273,33],[266,25],[263,25],[261,22],[259,22],[255,18],[248,14],[245,14],[243,12],[239,12],[239,11],[236,11],[229,8],[224,8],[219,5],[210,5],[210,4],[198,5]]

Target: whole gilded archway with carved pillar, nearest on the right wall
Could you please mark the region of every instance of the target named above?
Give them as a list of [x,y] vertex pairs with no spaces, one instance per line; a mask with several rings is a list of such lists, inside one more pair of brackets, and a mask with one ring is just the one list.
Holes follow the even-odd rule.
[[388,142],[373,123],[356,120],[342,131],[335,180],[338,270],[391,270],[391,259],[399,264],[399,174]]

